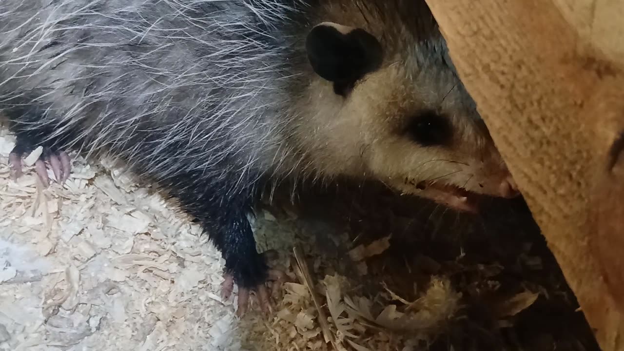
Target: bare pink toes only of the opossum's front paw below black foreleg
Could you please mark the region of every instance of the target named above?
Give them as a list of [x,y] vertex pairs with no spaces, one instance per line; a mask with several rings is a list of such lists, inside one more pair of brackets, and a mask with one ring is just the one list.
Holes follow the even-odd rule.
[[[267,251],[261,255],[266,261],[273,260],[277,253],[273,250]],[[271,294],[266,286],[266,283],[261,283],[255,287],[238,287],[238,304],[236,308],[236,314],[239,317],[245,315],[249,305],[249,297],[253,293],[256,295],[258,305],[263,313],[267,314],[271,312],[271,297],[276,297],[281,285],[286,281],[286,274],[281,269],[269,269],[267,271],[267,282],[271,282]],[[225,274],[225,280],[221,286],[221,294],[224,300],[227,300],[232,295],[234,290],[235,278],[232,274]]]

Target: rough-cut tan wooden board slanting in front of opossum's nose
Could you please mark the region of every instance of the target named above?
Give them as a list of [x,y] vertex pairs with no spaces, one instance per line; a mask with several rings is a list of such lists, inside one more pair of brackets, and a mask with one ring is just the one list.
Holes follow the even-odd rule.
[[623,350],[624,2],[427,2],[598,343]]

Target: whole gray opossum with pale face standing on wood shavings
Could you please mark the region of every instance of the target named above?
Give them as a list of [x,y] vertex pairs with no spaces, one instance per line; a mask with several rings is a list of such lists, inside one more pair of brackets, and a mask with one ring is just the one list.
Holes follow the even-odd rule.
[[176,197],[225,295],[275,275],[247,215],[282,179],[378,180],[475,210],[518,195],[423,0],[2,0],[0,109],[17,143],[105,152]]

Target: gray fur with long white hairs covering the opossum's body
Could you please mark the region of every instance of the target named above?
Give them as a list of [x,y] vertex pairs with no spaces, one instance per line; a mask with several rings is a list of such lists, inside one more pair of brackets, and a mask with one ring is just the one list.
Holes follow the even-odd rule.
[[[288,99],[280,81],[296,74],[285,59],[294,38],[271,29],[302,6],[5,0],[2,102],[45,106],[49,117],[32,127],[50,124],[51,140],[81,127],[59,147],[87,139],[87,151],[106,148],[129,162],[140,159],[145,172],[163,177],[185,171],[229,176],[207,165],[230,160],[243,181],[258,171],[260,152],[280,147],[276,130],[283,119],[274,116],[286,112],[280,111]],[[145,142],[152,144],[149,154],[137,148]]]

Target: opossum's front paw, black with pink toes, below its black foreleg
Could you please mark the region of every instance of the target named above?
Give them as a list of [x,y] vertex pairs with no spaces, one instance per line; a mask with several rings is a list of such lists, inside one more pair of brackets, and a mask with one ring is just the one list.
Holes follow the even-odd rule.
[[[238,285],[238,307],[236,314],[242,316],[247,311],[251,292],[255,293],[258,304],[262,312],[271,310],[271,295],[275,296],[286,280],[286,274],[280,269],[269,269],[267,262],[275,260],[277,252],[269,250],[263,254],[258,254],[256,264],[238,267],[238,269],[228,269],[226,267],[225,280],[221,286],[221,295],[227,300],[232,295],[234,284]],[[271,295],[266,286],[267,282],[272,282]]]

